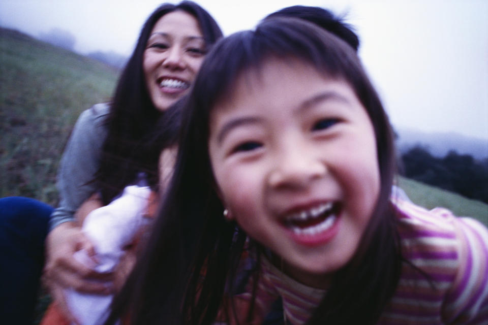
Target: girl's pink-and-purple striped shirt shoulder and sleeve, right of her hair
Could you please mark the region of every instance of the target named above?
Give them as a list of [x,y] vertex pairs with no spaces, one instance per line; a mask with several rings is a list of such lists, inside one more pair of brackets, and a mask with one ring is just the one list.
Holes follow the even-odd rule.
[[483,313],[488,317],[486,226],[444,208],[426,210],[403,200],[392,204],[405,262],[393,299],[395,308],[407,310],[408,296],[408,308],[434,314],[437,310],[443,323],[478,320]]

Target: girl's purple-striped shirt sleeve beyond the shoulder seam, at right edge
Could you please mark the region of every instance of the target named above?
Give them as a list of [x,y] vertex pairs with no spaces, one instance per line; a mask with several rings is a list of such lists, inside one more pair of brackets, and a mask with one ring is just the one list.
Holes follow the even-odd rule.
[[460,264],[444,304],[447,323],[488,324],[488,229],[472,218],[456,218]]

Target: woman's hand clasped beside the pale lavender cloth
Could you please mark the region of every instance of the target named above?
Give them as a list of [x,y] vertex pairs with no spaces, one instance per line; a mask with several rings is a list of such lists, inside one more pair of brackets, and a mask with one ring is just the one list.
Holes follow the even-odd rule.
[[107,295],[112,287],[101,281],[111,281],[112,273],[98,273],[78,262],[73,254],[84,249],[96,264],[95,248],[82,233],[75,222],[65,222],[54,228],[46,239],[46,265],[44,281],[50,289],[53,299],[65,316],[75,321],[69,312],[64,298],[64,290],[73,288],[84,293]]

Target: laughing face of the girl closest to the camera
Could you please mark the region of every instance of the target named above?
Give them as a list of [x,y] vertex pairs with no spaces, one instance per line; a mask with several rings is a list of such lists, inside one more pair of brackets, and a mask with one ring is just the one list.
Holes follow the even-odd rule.
[[374,129],[352,88],[297,60],[243,73],[210,114],[229,218],[321,287],[350,261],[380,191]]

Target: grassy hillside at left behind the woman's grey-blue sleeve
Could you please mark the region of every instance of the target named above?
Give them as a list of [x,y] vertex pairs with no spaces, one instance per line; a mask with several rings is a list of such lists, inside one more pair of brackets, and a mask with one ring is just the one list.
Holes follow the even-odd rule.
[[55,173],[78,115],[110,99],[118,71],[0,28],[0,197],[55,205]]

